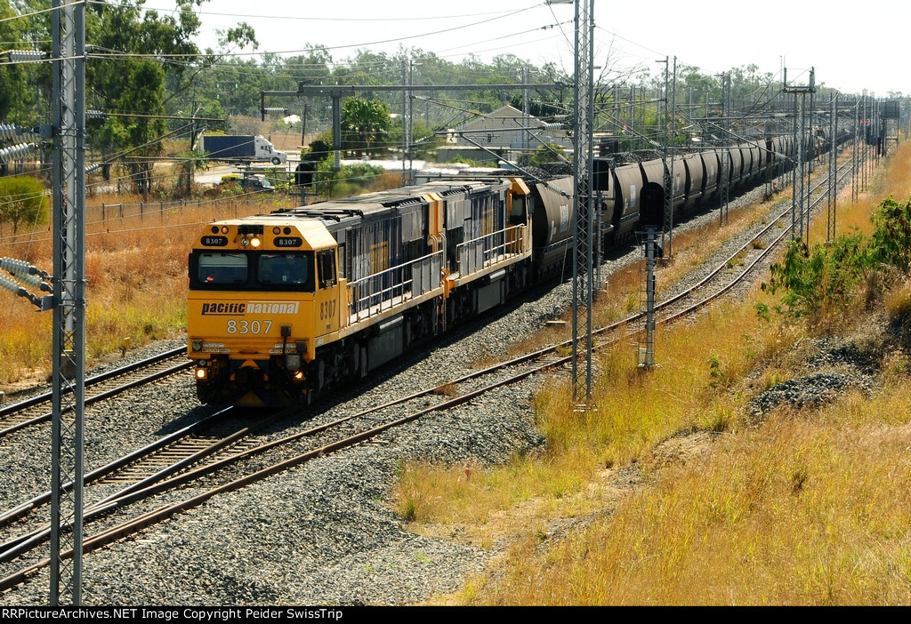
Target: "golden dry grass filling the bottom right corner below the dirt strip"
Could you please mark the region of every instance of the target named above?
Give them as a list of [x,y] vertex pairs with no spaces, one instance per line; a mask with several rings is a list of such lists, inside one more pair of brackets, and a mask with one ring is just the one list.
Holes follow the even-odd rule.
[[846,408],[722,438],[546,555],[526,538],[483,601],[907,603],[911,427],[844,428]]

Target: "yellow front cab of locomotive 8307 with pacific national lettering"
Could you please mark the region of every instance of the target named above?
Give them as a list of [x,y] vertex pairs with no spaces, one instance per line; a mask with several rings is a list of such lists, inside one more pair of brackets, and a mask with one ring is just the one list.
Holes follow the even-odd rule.
[[321,338],[337,331],[344,280],[325,229],[226,221],[189,257],[188,356],[204,402],[308,398]]

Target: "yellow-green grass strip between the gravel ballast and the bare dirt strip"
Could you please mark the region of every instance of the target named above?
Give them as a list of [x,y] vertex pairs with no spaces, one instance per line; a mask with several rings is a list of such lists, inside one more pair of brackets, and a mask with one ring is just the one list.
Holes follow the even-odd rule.
[[578,514],[590,506],[578,494],[604,468],[627,465],[681,430],[726,428],[745,400],[730,398],[728,387],[771,357],[782,332],[750,309],[722,307],[691,326],[659,331],[661,366],[649,374],[639,372],[633,349],[621,341],[598,357],[593,408],[575,411],[566,383],[537,393],[546,451],[506,468],[471,467],[470,478],[461,468],[407,467],[397,505],[428,523],[483,522],[531,498],[560,501],[564,513]]

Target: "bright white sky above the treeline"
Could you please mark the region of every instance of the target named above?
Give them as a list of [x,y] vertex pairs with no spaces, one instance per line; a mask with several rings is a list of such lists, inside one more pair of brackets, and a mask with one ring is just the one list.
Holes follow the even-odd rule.
[[[146,8],[161,12],[171,7],[172,0],[146,2]],[[256,30],[260,53],[300,54],[308,44],[325,45],[339,61],[358,48],[394,53],[404,45],[454,62],[469,54],[485,62],[514,54],[535,65],[554,61],[571,72],[573,15],[571,4],[531,0],[211,0],[203,5],[196,43],[215,47],[216,29],[245,21]],[[847,5],[596,0],[595,65],[602,65],[610,51],[621,64],[657,72],[663,71],[657,59],[676,55],[678,66],[696,65],[706,74],[759,65],[779,83],[785,65],[796,84],[806,84],[806,71],[814,66],[817,85],[843,93],[866,89],[876,96],[911,95],[911,73],[903,66],[909,17],[911,4],[899,0]],[[889,25],[896,25],[892,33]]]

